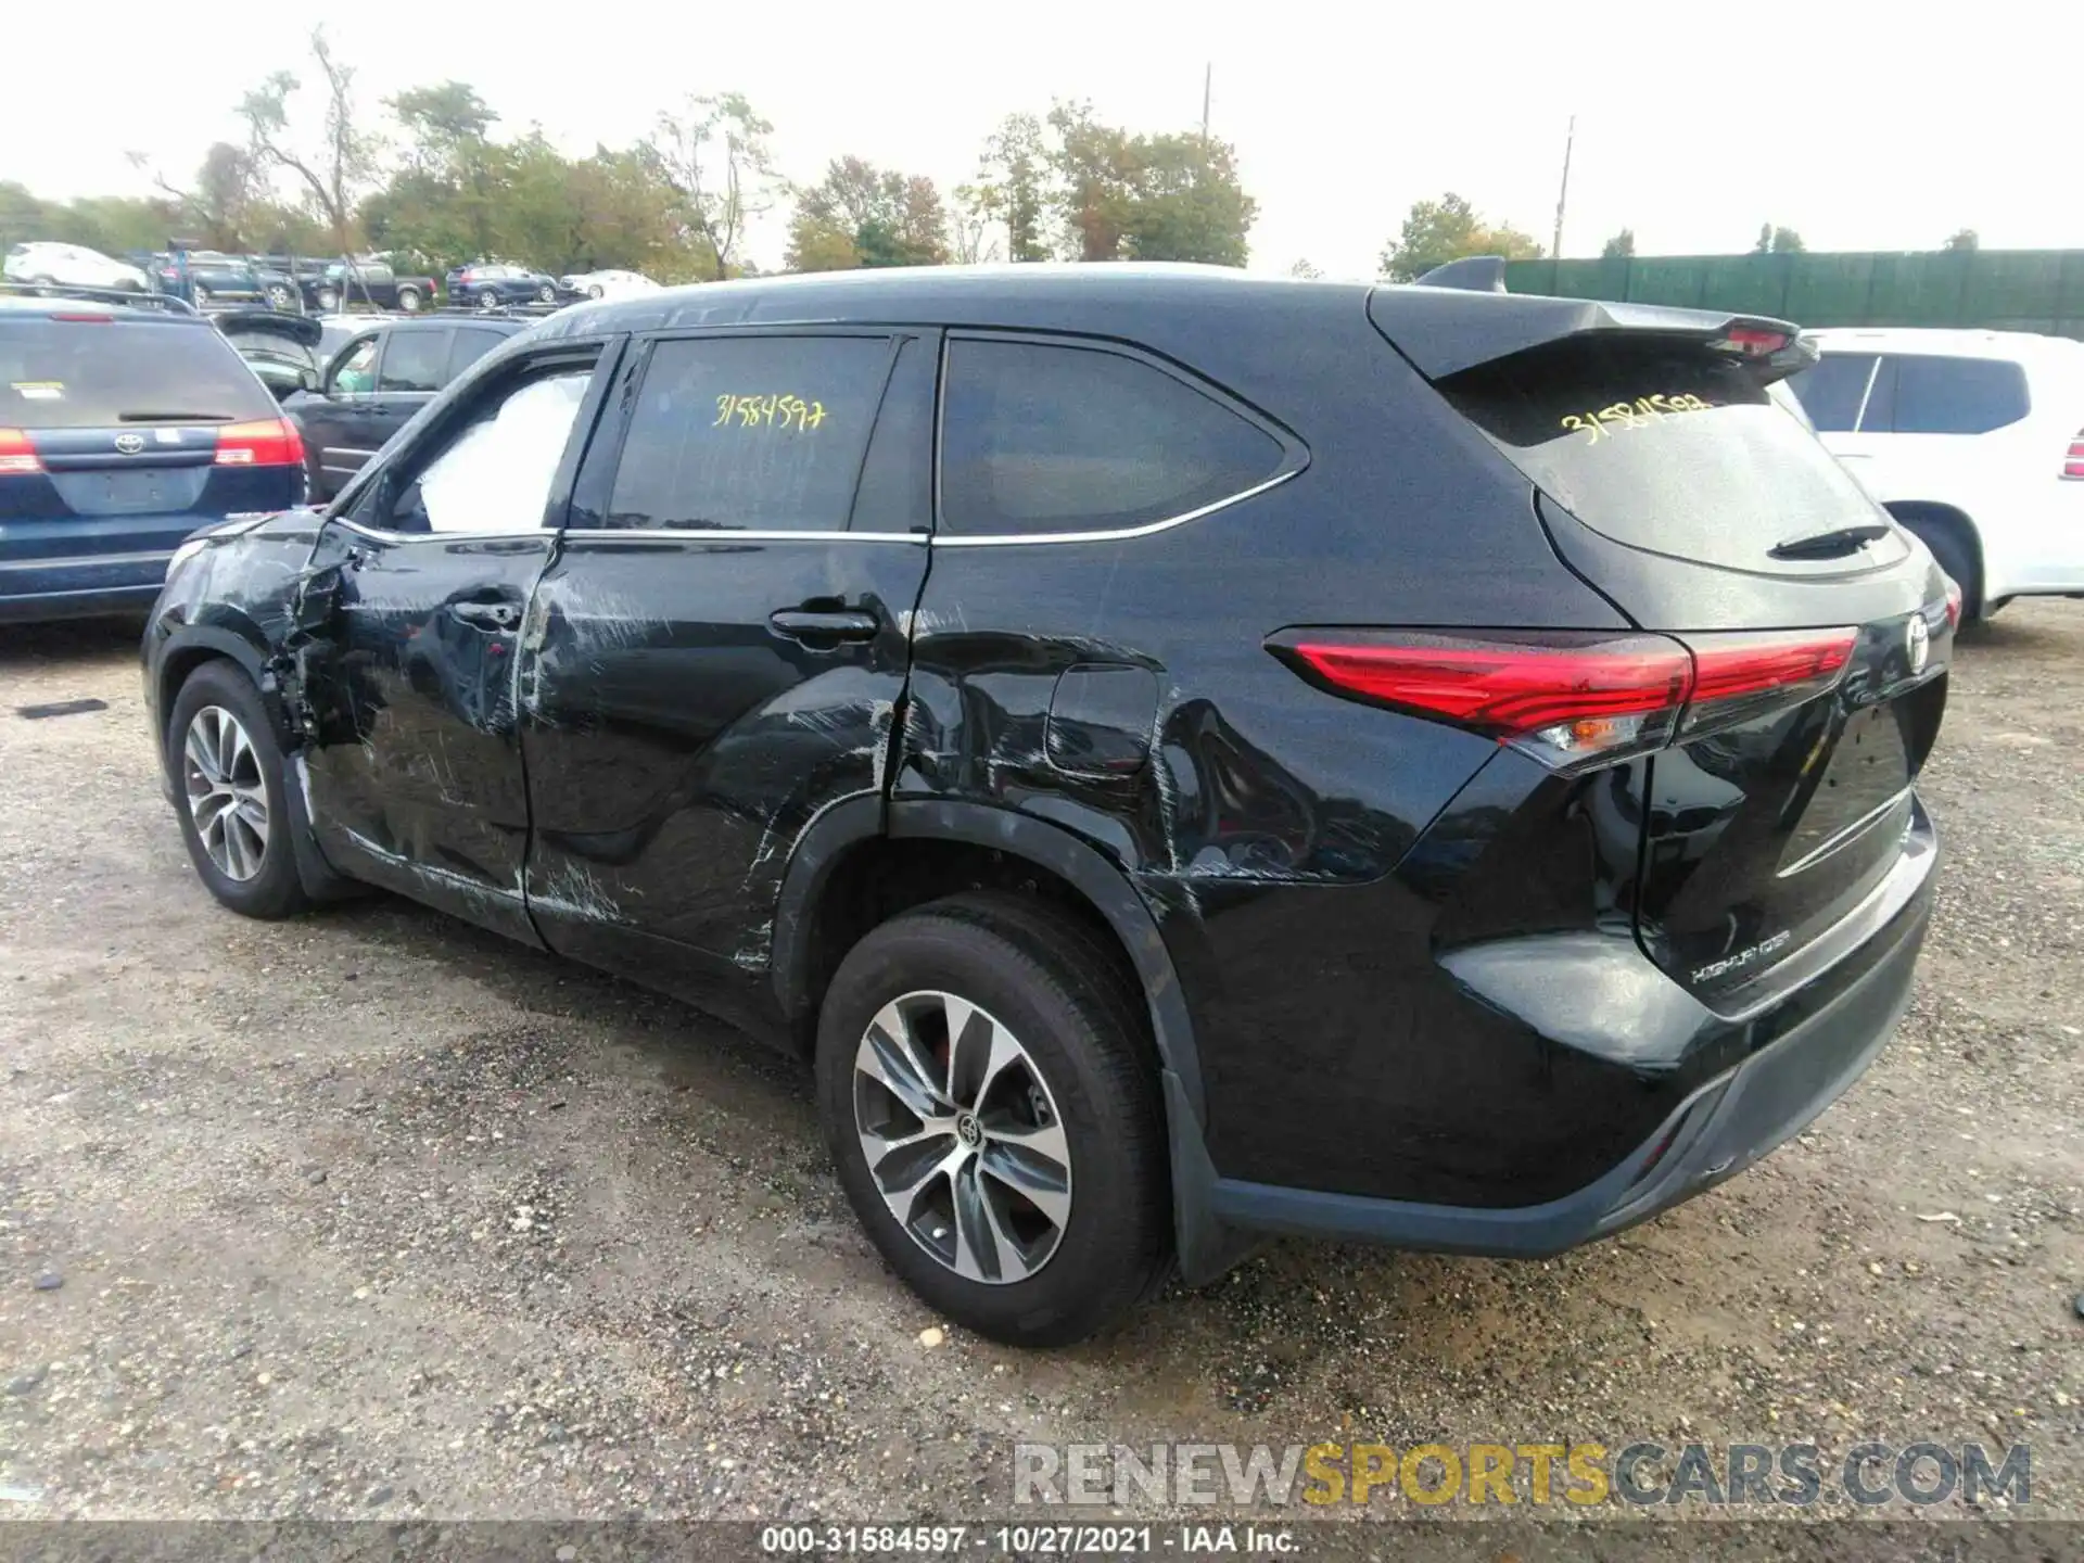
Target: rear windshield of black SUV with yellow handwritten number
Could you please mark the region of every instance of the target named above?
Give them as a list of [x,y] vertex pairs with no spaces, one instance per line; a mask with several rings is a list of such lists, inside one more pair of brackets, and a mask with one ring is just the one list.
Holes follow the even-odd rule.
[[[1571,338],[1463,371],[1442,396],[1557,504],[1615,542],[1726,569],[1871,523],[1874,502],[1740,363],[1634,336]],[[1869,569],[1876,550],[1828,569]]]

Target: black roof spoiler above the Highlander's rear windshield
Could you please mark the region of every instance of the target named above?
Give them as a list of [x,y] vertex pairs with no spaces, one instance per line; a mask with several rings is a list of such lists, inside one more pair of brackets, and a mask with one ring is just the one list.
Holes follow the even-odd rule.
[[1367,296],[1367,317],[1428,379],[1594,333],[1698,342],[1742,358],[1761,386],[1817,361],[1815,340],[1765,315],[1507,294],[1505,256],[1498,254],[1448,260],[1413,283],[1375,288]]

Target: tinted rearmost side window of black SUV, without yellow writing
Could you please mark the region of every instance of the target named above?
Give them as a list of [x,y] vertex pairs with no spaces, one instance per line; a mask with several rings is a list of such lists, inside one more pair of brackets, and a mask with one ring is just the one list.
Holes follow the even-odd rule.
[[1273,477],[1282,444],[1186,381],[1102,348],[948,344],[940,523],[952,536],[1109,531]]

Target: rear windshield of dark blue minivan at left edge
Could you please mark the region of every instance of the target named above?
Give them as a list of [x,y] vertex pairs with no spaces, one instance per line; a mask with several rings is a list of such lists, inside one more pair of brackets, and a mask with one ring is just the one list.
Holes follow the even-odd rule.
[[0,429],[265,417],[275,398],[206,325],[0,317]]

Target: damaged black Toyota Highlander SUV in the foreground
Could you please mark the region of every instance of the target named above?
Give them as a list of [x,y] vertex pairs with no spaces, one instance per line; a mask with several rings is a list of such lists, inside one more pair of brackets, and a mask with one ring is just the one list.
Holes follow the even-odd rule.
[[154,740],[235,911],[381,886],[765,1025],[1000,1340],[1277,1232],[1550,1255],[1909,994],[1951,604],[1796,363],[1194,267],[586,304],[194,544]]

